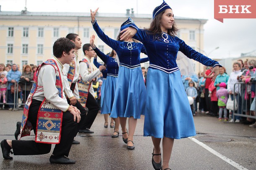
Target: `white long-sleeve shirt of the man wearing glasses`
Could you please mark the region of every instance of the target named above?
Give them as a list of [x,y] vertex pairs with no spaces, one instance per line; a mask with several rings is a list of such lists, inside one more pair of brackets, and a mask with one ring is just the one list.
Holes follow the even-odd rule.
[[[89,66],[91,68],[91,74],[89,74],[87,64],[85,62],[79,63],[80,75],[81,75],[83,81],[86,82],[86,81],[90,81],[90,80],[94,79],[95,77],[99,76],[99,74],[101,74],[101,71],[99,71],[99,69],[96,69],[93,71],[93,68],[91,66],[91,60],[87,56],[84,56],[84,58],[89,62]],[[92,96],[94,96],[94,90],[93,90],[92,86],[90,87],[89,91],[92,94]]]

